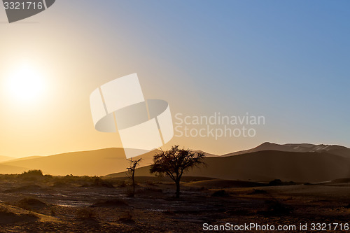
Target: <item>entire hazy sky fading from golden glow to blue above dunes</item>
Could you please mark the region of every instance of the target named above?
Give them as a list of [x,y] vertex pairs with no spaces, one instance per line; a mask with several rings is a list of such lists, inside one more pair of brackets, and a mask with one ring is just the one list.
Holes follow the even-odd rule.
[[[164,148],[350,147],[349,22],[349,1],[57,0],[12,24],[0,8],[0,155],[122,146],[94,129],[89,97],[130,73],[146,99],[168,101],[174,126],[178,113],[265,118],[253,137],[174,136]],[[41,86],[33,98],[9,84],[21,72]]]

